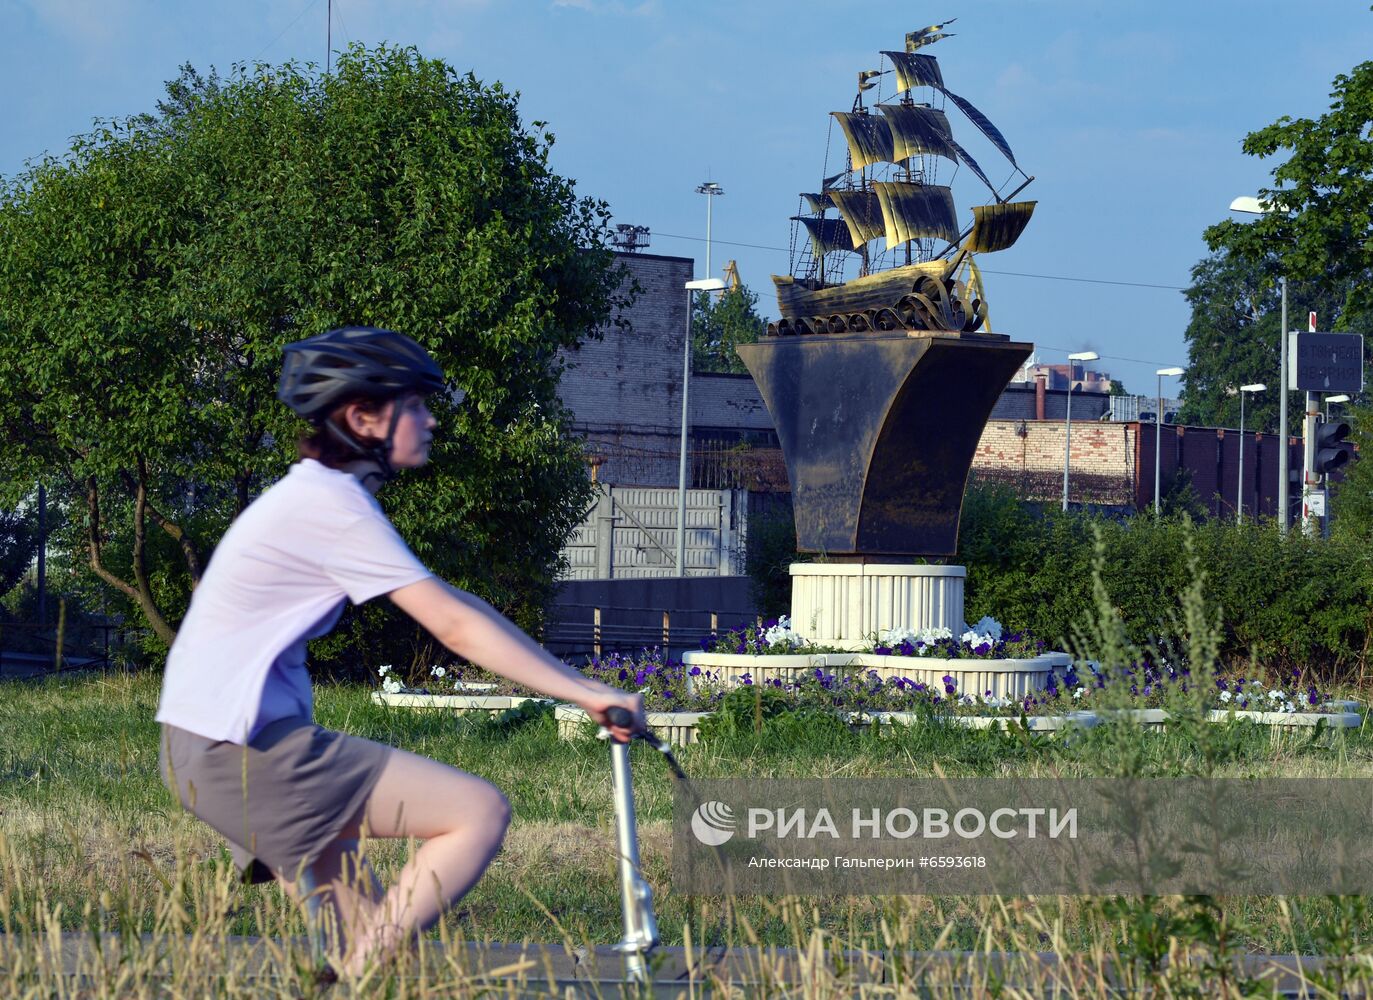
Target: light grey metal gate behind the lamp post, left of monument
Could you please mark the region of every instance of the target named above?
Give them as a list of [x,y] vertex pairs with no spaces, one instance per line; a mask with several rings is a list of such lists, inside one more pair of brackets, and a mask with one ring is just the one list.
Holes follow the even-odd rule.
[[[564,580],[676,577],[677,490],[597,484],[596,504],[563,547]],[[744,571],[747,492],[686,490],[686,573]]]

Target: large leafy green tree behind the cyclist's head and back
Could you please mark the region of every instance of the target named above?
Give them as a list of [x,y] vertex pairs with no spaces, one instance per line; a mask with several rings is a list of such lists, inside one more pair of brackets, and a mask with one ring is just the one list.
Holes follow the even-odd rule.
[[184,67],[157,113],[5,180],[0,504],[41,475],[54,545],[169,643],[214,543],[294,460],[281,345],[393,327],[468,396],[434,401],[430,467],[380,499],[435,571],[537,624],[588,495],[556,352],[619,283],[607,210],[551,144],[498,84],[354,47],[324,77]]

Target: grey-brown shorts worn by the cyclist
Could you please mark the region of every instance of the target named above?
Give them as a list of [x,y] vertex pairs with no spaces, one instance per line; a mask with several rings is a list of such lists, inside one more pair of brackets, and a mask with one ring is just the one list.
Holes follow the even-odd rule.
[[270,723],[251,743],[162,725],[162,780],[228,842],[244,882],[295,880],[361,820],[390,747],[316,725]]

